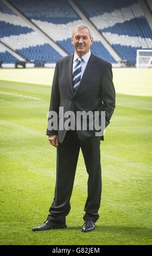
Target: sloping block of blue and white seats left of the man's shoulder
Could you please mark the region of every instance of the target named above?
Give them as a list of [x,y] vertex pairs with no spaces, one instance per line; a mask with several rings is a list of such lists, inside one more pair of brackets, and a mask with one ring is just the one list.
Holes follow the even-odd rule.
[[[33,31],[26,22],[12,13],[2,2],[0,2],[0,27],[1,42],[8,45],[28,62],[55,63],[56,59],[62,57],[41,35]],[[13,58],[11,62],[14,62]]]

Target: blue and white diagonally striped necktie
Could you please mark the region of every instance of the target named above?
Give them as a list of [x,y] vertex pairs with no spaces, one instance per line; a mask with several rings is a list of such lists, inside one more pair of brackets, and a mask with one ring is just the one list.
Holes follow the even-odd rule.
[[83,60],[83,58],[79,57],[77,60],[78,60],[78,63],[75,65],[73,74],[72,74],[73,92],[74,93],[78,89],[80,81],[81,81],[81,61]]

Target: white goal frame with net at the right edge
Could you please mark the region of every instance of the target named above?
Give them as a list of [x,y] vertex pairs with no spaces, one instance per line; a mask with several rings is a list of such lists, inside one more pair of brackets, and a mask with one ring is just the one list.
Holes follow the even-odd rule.
[[152,68],[152,50],[137,50],[136,68]]

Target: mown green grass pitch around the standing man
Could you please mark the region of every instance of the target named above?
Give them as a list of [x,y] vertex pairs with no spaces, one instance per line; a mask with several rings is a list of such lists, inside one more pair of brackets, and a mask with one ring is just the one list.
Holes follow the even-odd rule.
[[151,245],[151,74],[113,69],[116,110],[100,145],[96,230],[80,231],[87,197],[80,153],[68,228],[33,233],[54,197],[56,149],[46,136],[53,69],[0,70],[1,245]]

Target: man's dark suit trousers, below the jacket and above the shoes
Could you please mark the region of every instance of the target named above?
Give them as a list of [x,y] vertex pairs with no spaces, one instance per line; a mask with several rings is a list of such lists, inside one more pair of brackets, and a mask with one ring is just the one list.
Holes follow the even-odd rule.
[[98,210],[102,193],[100,138],[93,136],[82,142],[76,131],[69,130],[66,132],[64,141],[59,143],[57,148],[55,196],[47,217],[47,220],[53,223],[64,224],[71,209],[69,201],[80,148],[88,173],[84,221],[96,222],[99,218]]

